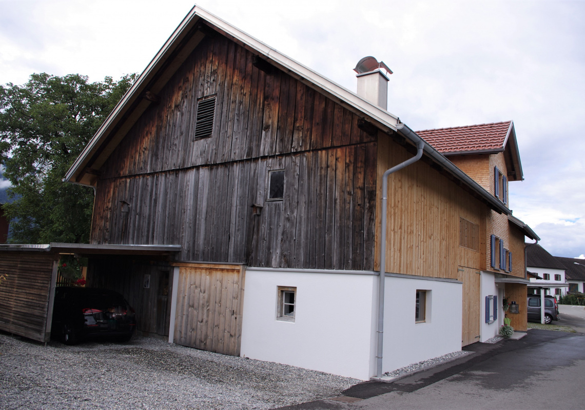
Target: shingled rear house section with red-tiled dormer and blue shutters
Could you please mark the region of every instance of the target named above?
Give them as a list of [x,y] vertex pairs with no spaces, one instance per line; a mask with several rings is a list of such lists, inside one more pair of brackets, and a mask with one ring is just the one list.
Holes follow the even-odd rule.
[[[508,182],[524,179],[512,121],[473,126],[417,131],[459,169],[510,209]],[[462,217],[462,224],[468,224]],[[477,229],[477,228],[476,228]],[[481,298],[497,296],[519,305],[518,313],[508,312],[511,325],[526,331],[526,276],[524,237],[539,239],[528,225],[511,211],[488,209],[481,215]],[[463,231],[462,231],[463,232]],[[463,235],[463,234],[462,234]],[[464,238],[461,239],[462,242]],[[484,245],[484,242],[485,245]],[[470,266],[470,265],[467,265]],[[479,269],[477,269],[479,270]],[[487,322],[487,313],[486,313]],[[497,334],[498,322],[483,323],[480,340]]]

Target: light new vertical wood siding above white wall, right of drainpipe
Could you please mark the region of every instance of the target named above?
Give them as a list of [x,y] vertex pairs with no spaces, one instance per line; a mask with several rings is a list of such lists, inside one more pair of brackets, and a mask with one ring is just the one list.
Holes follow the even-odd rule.
[[[378,197],[382,175],[414,154],[378,137]],[[376,203],[376,267],[379,269],[380,201]],[[388,176],[386,272],[457,279],[457,267],[485,267],[487,206],[425,161]],[[480,227],[480,252],[459,246],[460,217]]]

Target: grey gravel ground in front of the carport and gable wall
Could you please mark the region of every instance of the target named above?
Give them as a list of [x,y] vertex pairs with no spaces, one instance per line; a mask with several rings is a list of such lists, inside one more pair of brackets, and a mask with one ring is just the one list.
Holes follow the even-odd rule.
[[48,346],[0,334],[0,409],[270,409],[360,380],[170,345]]

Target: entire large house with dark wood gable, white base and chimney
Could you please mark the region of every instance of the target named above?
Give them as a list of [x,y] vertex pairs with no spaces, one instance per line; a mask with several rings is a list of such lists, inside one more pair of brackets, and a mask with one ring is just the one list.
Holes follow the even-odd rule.
[[[364,380],[491,338],[504,295],[525,330],[512,123],[450,162],[387,111],[386,65],[355,70],[358,94],[192,9],[66,175],[95,187],[88,286],[143,333]],[[383,173],[421,150],[388,177],[380,333]]]

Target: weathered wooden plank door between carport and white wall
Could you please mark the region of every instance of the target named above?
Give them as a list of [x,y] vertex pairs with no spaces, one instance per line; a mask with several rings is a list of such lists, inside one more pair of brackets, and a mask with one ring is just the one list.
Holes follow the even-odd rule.
[[174,343],[240,355],[244,272],[240,265],[180,266]]

